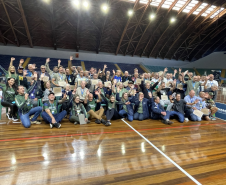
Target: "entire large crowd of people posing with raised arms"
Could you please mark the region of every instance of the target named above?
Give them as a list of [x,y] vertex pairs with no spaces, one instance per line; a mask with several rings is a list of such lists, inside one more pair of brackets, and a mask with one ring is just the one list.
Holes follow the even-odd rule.
[[166,125],[172,124],[172,119],[181,123],[216,120],[218,82],[212,74],[194,76],[181,69],[172,74],[167,68],[152,73],[134,69],[134,74],[129,74],[111,72],[107,65],[102,70],[91,67],[83,71],[81,66],[73,66],[72,56],[68,68],[58,60],[51,70],[47,58],[40,70],[35,64],[25,70],[23,59],[16,70],[14,60],[12,57],[8,71],[0,66],[6,77],[5,83],[0,83],[1,104],[10,109],[8,119],[19,118],[25,128],[40,124],[39,116],[50,128],[60,128],[64,118],[75,125],[95,119],[105,126],[121,118],[161,120]]

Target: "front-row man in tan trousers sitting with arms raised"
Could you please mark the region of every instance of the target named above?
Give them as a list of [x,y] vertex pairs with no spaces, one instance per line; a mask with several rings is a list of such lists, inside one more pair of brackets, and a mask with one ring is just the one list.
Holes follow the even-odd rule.
[[[99,90],[100,91],[100,90]],[[89,90],[87,90],[86,97],[84,100],[84,105],[86,106],[86,110],[88,112],[89,119],[96,118],[95,123],[100,124],[103,123],[106,124],[106,121],[102,119],[102,116],[104,114],[104,109],[101,107],[101,96],[98,91],[95,92],[95,95],[98,96],[98,99],[93,98],[93,94],[89,93]]]

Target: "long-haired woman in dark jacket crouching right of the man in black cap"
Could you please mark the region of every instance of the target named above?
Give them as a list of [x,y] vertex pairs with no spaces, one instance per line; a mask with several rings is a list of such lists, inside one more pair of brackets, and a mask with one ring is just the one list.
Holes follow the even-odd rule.
[[73,103],[72,103],[72,109],[71,109],[71,114],[70,114],[69,121],[74,123],[75,125],[77,125],[78,123],[80,123],[79,115],[80,114],[84,114],[84,116],[85,116],[85,120],[84,121],[86,123],[88,123],[89,115],[87,114],[84,105],[80,102],[79,95],[75,95],[73,98],[71,98],[70,102],[72,100],[73,100]]

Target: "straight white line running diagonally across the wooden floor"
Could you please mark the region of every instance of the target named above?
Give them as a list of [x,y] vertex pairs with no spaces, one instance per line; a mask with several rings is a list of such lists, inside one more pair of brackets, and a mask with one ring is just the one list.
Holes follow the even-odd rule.
[[202,185],[198,182],[194,177],[192,177],[188,172],[186,172],[183,168],[181,168],[176,162],[170,159],[166,154],[164,154],[161,150],[159,150],[152,142],[150,142],[146,137],[144,137],[140,132],[138,132],[135,128],[133,128],[129,123],[127,123],[124,119],[121,119],[125,124],[127,124],[131,129],[134,130],[138,135],[140,135],[145,141],[147,141],[154,149],[156,149],[160,154],[162,154],[166,159],[168,159],[171,163],[174,164],[181,172],[183,172],[187,177],[189,177],[194,183],[197,185]]

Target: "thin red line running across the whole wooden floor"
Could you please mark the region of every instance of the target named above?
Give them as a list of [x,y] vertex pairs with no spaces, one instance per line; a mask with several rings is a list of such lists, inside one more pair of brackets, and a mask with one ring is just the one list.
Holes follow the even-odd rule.
[[[147,129],[139,129],[138,131],[145,130],[163,130],[163,129],[174,129],[174,128],[189,128],[189,127],[204,127],[210,125],[226,125],[226,123],[212,123],[207,125],[185,125],[178,127],[161,127],[161,128],[147,128]],[[65,134],[65,135],[55,135],[55,136],[37,136],[37,137],[25,137],[25,138],[12,138],[12,139],[2,139],[0,142],[4,141],[19,141],[19,140],[30,140],[30,139],[48,139],[48,138],[58,138],[58,137],[71,137],[71,136],[85,136],[85,135],[97,135],[97,134],[112,134],[112,133],[120,133],[120,132],[132,132],[133,130],[121,130],[121,131],[110,131],[110,132],[91,132],[91,133],[80,133],[80,134]]]

